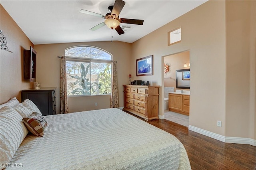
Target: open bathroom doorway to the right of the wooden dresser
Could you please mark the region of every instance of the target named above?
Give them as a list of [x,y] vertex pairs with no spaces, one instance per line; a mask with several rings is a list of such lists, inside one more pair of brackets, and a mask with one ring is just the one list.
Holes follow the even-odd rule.
[[[189,50],[164,56],[164,119],[188,127],[189,114],[184,114],[182,111],[175,111],[172,109],[172,111],[169,111],[169,93],[174,95],[185,95],[186,97],[190,95],[190,89],[176,88],[176,70],[183,69],[190,69]],[[188,84],[190,84],[190,78]],[[180,93],[181,90],[182,93]]]

